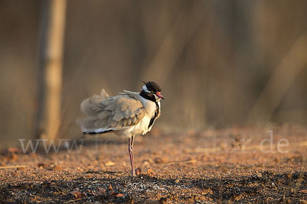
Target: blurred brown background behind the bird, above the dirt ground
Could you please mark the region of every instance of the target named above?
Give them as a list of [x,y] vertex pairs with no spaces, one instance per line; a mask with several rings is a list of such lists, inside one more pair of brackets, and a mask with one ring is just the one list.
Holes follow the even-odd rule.
[[162,130],[307,121],[307,1],[62,2],[0,1],[0,148],[40,134],[57,17],[58,138],[81,135],[83,98],[139,91],[140,80],[166,97]]

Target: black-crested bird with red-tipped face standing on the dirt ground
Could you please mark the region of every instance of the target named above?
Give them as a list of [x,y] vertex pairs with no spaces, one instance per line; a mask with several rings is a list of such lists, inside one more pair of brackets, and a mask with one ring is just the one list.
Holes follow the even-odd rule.
[[160,117],[161,88],[156,82],[144,82],[140,92],[124,90],[109,96],[104,89],[100,95],[86,98],[80,105],[86,115],[79,119],[83,134],[115,133],[128,138],[131,175],[136,176],[133,143],[137,135],[145,135]]

